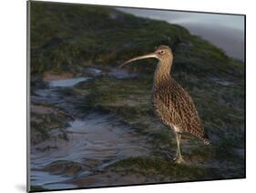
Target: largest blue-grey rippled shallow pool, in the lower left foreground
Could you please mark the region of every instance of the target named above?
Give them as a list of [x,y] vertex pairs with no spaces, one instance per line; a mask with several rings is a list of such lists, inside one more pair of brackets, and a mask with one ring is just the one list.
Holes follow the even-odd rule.
[[[73,188],[75,185],[70,185],[72,179],[92,176],[95,169],[102,170],[123,157],[148,154],[145,139],[137,137],[129,127],[110,116],[92,114],[85,119],[76,119],[70,122],[67,131],[68,141],[50,140],[32,148],[32,186]],[[44,147],[54,148],[39,150]],[[65,176],[65,171],[58,175],[42,171],[50,164],[63,160],[86,165],[87,170],[81,169],[72,177]],[[98,179],[98,183],[100,181]]]

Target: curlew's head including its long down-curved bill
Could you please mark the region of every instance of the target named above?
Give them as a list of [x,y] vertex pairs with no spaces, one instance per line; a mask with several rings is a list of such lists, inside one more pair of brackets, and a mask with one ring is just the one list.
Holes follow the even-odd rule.
[[143,55],[143,56],[137,56],[137,57],[133,57],[131,59],[129,59],[128,61],[126,61],[125,63],[123,63],[122,65],[120,65],[119,67],[125,66],[126,64],[136,61],[136,60],[140,60],[140,59],[144,59],[144,58],[157,58],[159,59],[159,61],[162,62],[166,62],[166,64],[170,64],[173,56],[172,56],[172,51],[169,48],[169,46],[158,46],[156,51],[147,55]]

